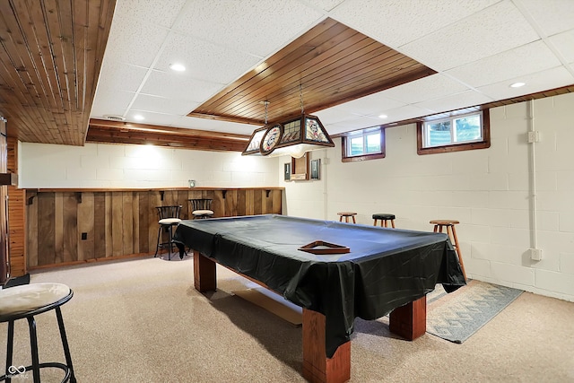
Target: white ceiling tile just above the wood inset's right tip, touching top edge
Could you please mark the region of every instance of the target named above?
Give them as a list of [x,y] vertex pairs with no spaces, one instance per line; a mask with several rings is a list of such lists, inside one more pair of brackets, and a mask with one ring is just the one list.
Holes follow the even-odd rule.
[[[503,37],[503,38],[502,38]],[[455,22],[399,48],[409,57],[444,71],[539,39],[511,2]]]

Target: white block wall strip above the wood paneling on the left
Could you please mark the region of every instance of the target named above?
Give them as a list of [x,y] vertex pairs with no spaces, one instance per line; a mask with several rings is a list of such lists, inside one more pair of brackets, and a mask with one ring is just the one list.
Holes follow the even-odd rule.
[[20,146],[19,186],[276,187],[277,159],[239,152],[201,152],[152,145]]

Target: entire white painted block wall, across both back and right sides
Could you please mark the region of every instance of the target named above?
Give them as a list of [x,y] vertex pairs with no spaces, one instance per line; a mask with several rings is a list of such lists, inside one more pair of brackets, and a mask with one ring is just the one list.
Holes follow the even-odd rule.
[[[137,145],[21,145],[21,187],[286,187],[285,213],[358,222],[395,213],[400,228],[431,231],[451,218],[468,276],[574,301],[574,94],[535,100],[536,231],[531,222],[526,103],[491,109],[491,148],[419,156],[415,126],[387,129],[387,158],[341,162],[340,140],[321,158],[321,179],[283,181],[282,158]],[[149,151],[149,152],[148,152]],[[328,193],[326,192],[328,190]],[[542,248],[531,261],[528,249]]]

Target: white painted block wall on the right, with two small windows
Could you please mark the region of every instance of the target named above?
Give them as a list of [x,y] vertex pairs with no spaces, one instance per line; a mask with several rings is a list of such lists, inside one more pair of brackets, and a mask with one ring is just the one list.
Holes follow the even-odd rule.
[[[533,105],[541,134],[536,231],[526,102],[491,109],[489,149],[420,156],[409,125],[387,129],[385,159],[343,163],[335,140],[335,148],[311,152],[322,158],[321,181],[280,181],[287,213],[337,220],[336,212],[351,210],[369,225],[372,213],[395,213],[397,227],[419,231],[431,231],[432,219],[456,219],[469,277],[574,301],[574,94]],[[528,251],[535,238],[538,262]]]

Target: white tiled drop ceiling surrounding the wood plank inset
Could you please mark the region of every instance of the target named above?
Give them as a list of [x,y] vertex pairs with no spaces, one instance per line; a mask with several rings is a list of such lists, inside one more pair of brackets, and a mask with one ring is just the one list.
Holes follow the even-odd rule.
[[[88,4],[102,2],[114,3]],[[237,88],[246,76],[257,74],[274,55],[324,22],[340,23],[430,70],[428,75],[383,86],[380,91],[365,91],[361,84],[354,87],[347,81],[342,86],[355,91],[358,98],[323,105],[313,104],[312,90],[305,85],[308,76],[300,82],[304,105],[309,96],[309,109],[330,135],[500,105],[501,100],[572,91],[574,84],[571,0],[117,0],[90,109],[88,140],[122,142],[133,137],[139,126],[157,130],[157,135],[170,132],[176,138],[185,132],[193,137],[222,134],[234,140],[233,148],[240,146],[237,142],[264,117],[260,101],[265,100],[265,91],[253,97],[254,102],[261,98],[259,107],[241,116],[248,121],[213,113],[210,102]],[[102,25],[105,32],[105,22]],[[4,47],[5,34],[0,36]],[[0,59],[7,66],[5,49]],[[170,70],[175,63],[187,70]],[[4,72],[0,71],[0,113],[6,116],[5,110],[13,113],[22,108],[10,107],[19,100],[5,95],[9,86]],[[509,86],[517,82],[526,85]],[[291,94],[290,108],[297,112],[297,87],[292,90],[291,85]],[[274,105],[279,104],[272,100],[269,111],[276,118],[288,113],[274,111]],[[194,115],[200,112],[202,116]],[[106,116],[125,118],[125,122],[107,121]],[[11,117],[16,118],[8,116],[9,134]],[[30,125],[21,124],[19,131],[25,133]],[[48,126],[57,135],[54,126],[62,127]],[[86,127],[84,120],[77,121],[78,132]],[[22,134],[23,141],[47,139],[50,136]],[[178,146],[176,141],[165,140]],[[138,141],[133,138],[133,142]],[[221,150],[234,150],[230,147]]]

